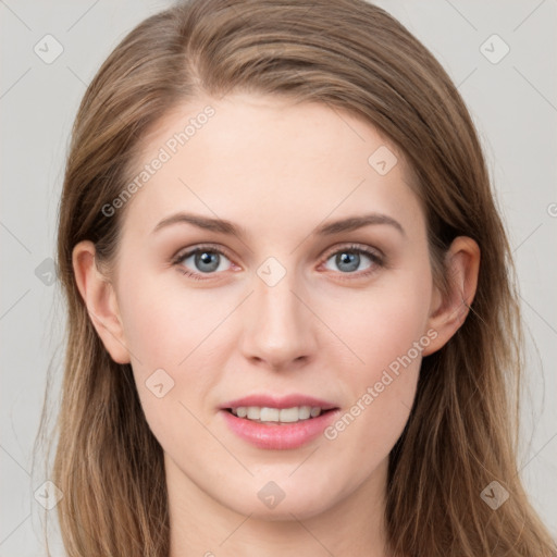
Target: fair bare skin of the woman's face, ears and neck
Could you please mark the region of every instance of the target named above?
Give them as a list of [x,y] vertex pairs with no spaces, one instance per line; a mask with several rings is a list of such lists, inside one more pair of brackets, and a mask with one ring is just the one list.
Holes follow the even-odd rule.
[[[184,103],[146,138],[138,168],[209,103],[214,116],[125,207],[112,274],[97,269],[90,242],[75,247],[73,260],[91,320],[112,358],[132,363],[164,450],[171,557],[385,557],[388,454],[408,420],[422,357],[467,315],[479,248],[470,238],[454,242],[451,292],[442,298],[404,157],[369,123],[325,104],[248,94]],[[386,175],[368,163],[381,146],[398,159]],[[185,223],[152,233],[177,211],[230,220],[245,236]],[[313,234],[372,211],[405,234],[387,224]],[[207,243],[226,253],[212,274],[194,257],[172,264]],[[335,255],[349,244],[381,250],[386,264],[360,253],[347,271]],[[274,286],[257,274],[269,257],[286,271]],[[252,393],[301,393],[344,413],[428,331],[429,345],[334,440],[261,449],[218,411]],[[158,398],[145,383],[161,368],[174,387]],[[258,498],[270,481],[285,494],[273,509]]]

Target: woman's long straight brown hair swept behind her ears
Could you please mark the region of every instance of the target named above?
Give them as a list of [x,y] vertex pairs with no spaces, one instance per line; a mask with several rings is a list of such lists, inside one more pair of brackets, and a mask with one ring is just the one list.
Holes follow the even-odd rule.
[[[482,257],[471,311],[422,361],[407,426],[389,456],[393,555],[548,556],[555,543],[517,469],[523,366],[516,275],[476,132],[447,73],[400,23],[363,0],[193,0],[134,28],[104,61],[75,119],[60,205],[58,267],[67,346],[51,479],[70,557],[163,557],[162,449],[129,364],[104,349],[79,296],[72,249],[110,268],[125,210],[102,208],[134,175],[141,141],[177,104],[236,90],[327,103],[375,126],[408,159],[426,214],[434,281],[469,236]],[[496,510],[492,482],[509,493]]]

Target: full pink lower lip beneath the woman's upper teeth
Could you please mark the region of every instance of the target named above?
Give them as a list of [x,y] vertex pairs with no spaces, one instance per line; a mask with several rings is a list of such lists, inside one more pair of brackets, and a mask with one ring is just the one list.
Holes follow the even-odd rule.
[[338,409],[330,410],[317,418],[296,423],[269,424],[238,418],[228,410],[221,410],[226,424],[238,437],[267,449],[288,449],[306,445],[319,437],[338,412]]

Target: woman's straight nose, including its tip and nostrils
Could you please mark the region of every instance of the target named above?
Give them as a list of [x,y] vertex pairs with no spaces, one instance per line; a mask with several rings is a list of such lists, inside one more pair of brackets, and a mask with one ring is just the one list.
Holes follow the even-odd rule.
[[[295,284],[294,273],[270,286],[257,274],[244,319],[240,350],[245,358],[274,371],[298,368],[313,359],[315,317]],[[302,301],[304,300],[304,301]]]

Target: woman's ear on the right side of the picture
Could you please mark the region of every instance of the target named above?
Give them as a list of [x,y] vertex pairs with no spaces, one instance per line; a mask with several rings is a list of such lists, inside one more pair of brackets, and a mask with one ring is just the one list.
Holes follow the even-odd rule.
[[437,333],[422,352],[428,356],[442,348],[465,322],[478,287],[480,247],[468,236],[455,238],[446,256],[449,292],[443,297],[438,288],[432,296],[428,330]]

